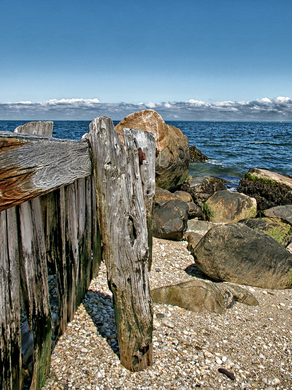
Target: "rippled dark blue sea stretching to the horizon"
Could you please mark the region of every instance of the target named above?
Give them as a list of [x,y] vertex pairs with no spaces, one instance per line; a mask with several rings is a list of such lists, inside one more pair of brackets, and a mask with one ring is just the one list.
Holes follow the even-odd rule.
[[[27,121],[0,121],[0,130],[13,131]],[[56,120],[53,137],[80,139],[90,121]],[[116,125],[118,121],[114,121]],[[190,174],[217,176],[236,188],[249,168],[292,176],[292,122],[166,121],[179,127],[210,160],[191,164]]]

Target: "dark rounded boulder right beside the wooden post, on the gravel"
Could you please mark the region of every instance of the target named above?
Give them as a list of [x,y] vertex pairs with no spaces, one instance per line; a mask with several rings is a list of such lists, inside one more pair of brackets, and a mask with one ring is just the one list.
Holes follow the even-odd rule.
[[153,213],[152,234],[166,240],[183,239],[189,207],[182,200],[169,200]]

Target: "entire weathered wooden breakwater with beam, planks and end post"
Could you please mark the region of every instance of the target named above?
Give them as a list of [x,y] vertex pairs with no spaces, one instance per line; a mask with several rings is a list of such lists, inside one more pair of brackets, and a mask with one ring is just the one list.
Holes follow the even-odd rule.
[[124,145],[108,117],[94,119],[81,141],[52,130],[53,122],[32,122],[0,132],[1,389],[21,389],[21,305],[34,336],[31,389],[44,384],[53,328],[47,267],[61,334],[98,273],[101,239],[121,362],[133,371],[152,364],[154,136],[124,129]]

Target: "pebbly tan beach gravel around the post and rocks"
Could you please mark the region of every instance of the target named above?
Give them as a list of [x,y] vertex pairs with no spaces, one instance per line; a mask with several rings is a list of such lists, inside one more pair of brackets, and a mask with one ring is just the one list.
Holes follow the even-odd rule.
[[[151,289],[203,276],[186,246],[153,238]],[[43,389],[291,390],[292,290],[240,287],[259,306],[237,302],[219,315],[154,303],[153,366],[133,373],[120,364],[102,263],[54,347]]]

